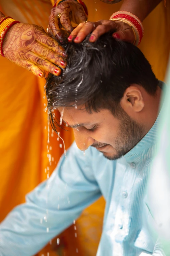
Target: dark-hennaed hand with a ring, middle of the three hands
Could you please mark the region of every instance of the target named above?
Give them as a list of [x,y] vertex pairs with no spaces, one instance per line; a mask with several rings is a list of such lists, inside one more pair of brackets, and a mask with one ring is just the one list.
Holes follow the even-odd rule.
[[[55,4],[56,4],[55,0]],[[48,35],[57,39],[58,42],[62,43],[62,34],[60,29],[63,27],[69,33],[73,30],[71,22],[79,24],[87,20],[87,15],[77,1],[65,0],[58,6],[51,9],[51,15],[49,17]],[[60,19],[57,15],[61,14]]]

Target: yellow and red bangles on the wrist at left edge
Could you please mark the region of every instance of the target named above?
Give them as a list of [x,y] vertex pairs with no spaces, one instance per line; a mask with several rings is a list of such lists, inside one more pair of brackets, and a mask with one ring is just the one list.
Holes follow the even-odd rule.
[[4,41],[4,37],[11,26],[16,23],[20,23],[19,21],[15,21],[9,16],[5,16],[0,19],[0,54],[1,56],[5,57],[2,50],[2,44]]

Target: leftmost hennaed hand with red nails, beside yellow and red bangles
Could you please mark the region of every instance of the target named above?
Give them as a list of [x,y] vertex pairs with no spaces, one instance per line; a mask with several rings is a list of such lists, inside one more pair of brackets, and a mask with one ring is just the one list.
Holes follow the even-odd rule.
[[66,67],[64,48],[50,38],[41,26],[23,23],[11,26],[5,35],[2,50],[8,60],[38,77],[44,77],[41,69],[59,76],[59,67]]

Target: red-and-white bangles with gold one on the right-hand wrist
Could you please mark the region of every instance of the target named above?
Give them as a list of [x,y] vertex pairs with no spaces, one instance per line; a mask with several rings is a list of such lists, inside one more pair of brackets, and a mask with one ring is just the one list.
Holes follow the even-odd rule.
[[142,22],[135,14],[128,11],[117,11],[111,15],[110,20],[128,24],[134,32],[135,40],[133,44],[135,46],[139,45],[144,35],[144,28]]

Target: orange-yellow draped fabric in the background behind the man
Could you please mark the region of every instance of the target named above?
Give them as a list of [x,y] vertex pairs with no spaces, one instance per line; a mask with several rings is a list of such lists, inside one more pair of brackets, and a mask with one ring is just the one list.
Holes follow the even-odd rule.
[[[106,5],[99,0],[84,1],[89,10],[89,20],[108,19],[119,10],[121,3]],[[145,35],[140,49],[153,67],[159,79],[164,79],[170,48],[170,6],[169,1],[160,5],[144,21]],[[50,0],[2,0],[5,14],[21,22],[48,26]],[[47,158],[47,113],[44,96],[44,79],[36,78],[30,72],[0,57],[1,70],[1,115],[0,115],[0,220],[17,204],[24,202],[27,192],[46,179]],[[52,135],[52,136],[51,136]],[[66,147],[73,141],[73,133],[61,131]],[[50,153],[54,157],[49,166],[55,168],[63,148],[59,147],[56,134],[50,128]],[[99,199],[87,208],[76,222],[78,237],[73,239],[70,227],[60,237],[44,248],[39,255],[93,256],[96,253],[102,231],[104,199]]]

